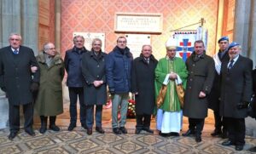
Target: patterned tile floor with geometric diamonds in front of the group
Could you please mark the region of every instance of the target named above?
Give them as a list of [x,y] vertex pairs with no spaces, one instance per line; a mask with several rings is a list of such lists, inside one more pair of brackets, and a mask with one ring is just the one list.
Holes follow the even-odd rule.
[[[66,154],[66,153],[185,153],[185,154],[233,154],[233,153],[251,153],[248,148],[256,145],[255,138],[246,138],[246,145],[243,151],[235,151],[234,146],[225,147],[220,138],[212,138],[210,134],[204,133],[202,142],[196,143],[193,137],[161,137],[156,134],[121,134],[115,135],[110,128],[105,128],[106,134],[93,132],[87,135],[83,128],[77,127],[74,131],[68,132],[67,128],[61,128],[60,132],[47,131],[45,134],[39,134],[36,130],[36,136],[31,137],[23,130],[10,141],[7,138],[8,129],[0,131],[0,153],[1,154]],[[129,129],[129,132],[134,130]]]

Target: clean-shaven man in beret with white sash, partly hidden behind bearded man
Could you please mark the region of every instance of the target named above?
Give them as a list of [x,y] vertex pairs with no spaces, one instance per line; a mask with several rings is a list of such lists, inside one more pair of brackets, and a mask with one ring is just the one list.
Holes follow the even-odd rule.
[[218,40],[218,53],[213,55],[213,60],[215,64],[215,77],[212,84],[211,93],[208,95],[207,99],[209,101],[209,108],[214,112],[215,119],[215,129],[212,132],[212,136],[221,136],[223,139],[227,138],[227,127],[224,122],[224,118],[219,116],[219,97],[220,97],[220,68],[221,63],[230,60],[228,54],[229,47],[229,37],[221,37]]

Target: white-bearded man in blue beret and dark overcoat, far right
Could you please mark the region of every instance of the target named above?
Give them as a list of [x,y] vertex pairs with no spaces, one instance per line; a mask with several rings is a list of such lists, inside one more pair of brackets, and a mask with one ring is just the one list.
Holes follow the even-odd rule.
[[253,60],[241,56],[241,46],[230,43],[229,61],[221,66],[220,116],[225,117],[229,140],[222,145],[236,145],[241,151],[245,145],[245,117],[253,94]]

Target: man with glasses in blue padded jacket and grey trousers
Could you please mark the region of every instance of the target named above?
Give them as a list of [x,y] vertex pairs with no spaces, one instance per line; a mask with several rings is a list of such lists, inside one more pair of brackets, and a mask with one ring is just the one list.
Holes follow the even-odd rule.
[[[127,134],[125,128],[129,92],[131,91],[132,54],[126,47],[126,38],[119,37],[117,45],[106,60],[106,77],[112,95],[112,128],[114,134]],[[118,123],[120,106],[121,119]]]

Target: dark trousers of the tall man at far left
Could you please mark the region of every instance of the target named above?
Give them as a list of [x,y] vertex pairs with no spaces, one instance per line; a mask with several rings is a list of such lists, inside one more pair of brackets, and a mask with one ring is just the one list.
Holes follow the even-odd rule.
[[[33,124],[33,104],[23,105],[24,128],[30,129]],[[20,130],[20,106],[9,104],[9,130],[10,132],[18,132]]]

